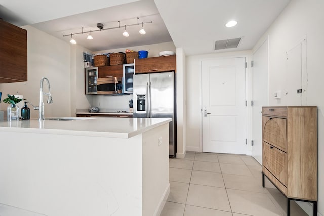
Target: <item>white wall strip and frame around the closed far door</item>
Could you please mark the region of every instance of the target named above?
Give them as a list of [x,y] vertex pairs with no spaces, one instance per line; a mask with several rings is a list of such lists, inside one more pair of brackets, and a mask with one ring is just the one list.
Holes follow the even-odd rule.
[[[246,57],[251,62],[251,51],[228,53],[211,53],[192,55],[186,58],[186,150],[201,152],[201,61],[212,58]],[[247,79],[250,77],[251,68],[248,64]],[[247,92],[249,101],[250,93]],[[248,107],[249,109],[249,107]],[[249,112],[248,112],[249,113]],[[247,116],[247,120],[248,120]],[[247,130],[249,127],[247,127]],[[247,133],[248,134],[248,133]],[[248,136],[248,135],[247,135]],[[247,137],[248,138],[248,137]],[[248,138],[249,139],[249,138]],[[251,154],[251,148],[247,154]]]

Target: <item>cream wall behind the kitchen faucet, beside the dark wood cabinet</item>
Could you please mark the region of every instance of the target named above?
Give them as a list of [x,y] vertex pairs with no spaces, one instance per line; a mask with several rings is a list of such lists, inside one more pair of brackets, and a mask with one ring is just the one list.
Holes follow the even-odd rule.
[[[26,101],[39,105],[39,90],[42,77],[47,77],[51,85],[53,104],[45,100],[45,117],[70,115],[70,45],[31,26],[27,30],[28,81],[0,84],[2,99],[6,94],[23,95]],[[47,84],[43,85],[47,92]],[[6,110],[8,104],[0,103],[0,109]],[[38,111],[30,107],[30,117],[38,118]]]

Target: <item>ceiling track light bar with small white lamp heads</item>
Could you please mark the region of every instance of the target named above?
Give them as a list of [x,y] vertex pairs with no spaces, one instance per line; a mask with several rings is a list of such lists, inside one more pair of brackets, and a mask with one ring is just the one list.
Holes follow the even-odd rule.
[[[124,37],[128,37],[129,36],[129,33],[126,31],[126,26],[134,26],[134,25],[139,25],[140,23],[138,22],[139,18],[137,17],[137,23],[136,24],[131,24],[131,25],[124,25],[124,32],[123,32],[123,36]],[[76,41],[75,39],[72,37],[73,35],[75,34],[83,34],[83,33],[90,33],[88,34],[87,36],[87,39],[88,40],[92,40],[93,37],[92,37],[92,32],[95,32],[95,31],[104,31],[104,30],[112,30],[112,29],[117,29],[117,28],[120,28],[120,21],[118,21],[119,25],[117,27],[112,27],[112,28],[103,28],[103,24],[102,23],[97,23],[97,28],[99,28],[99,30],[91,30],[91,31],[83,31],[83,27],[82,27],[82,32],[78,32],[78,33],[71,33],[71,34],[66,34],[66,35],[63,35],[63,37],[66,37],[66,36],[71,36],[71,40],[70,40],[70,43],[71,44],[76,44]],[[150,22],[141,22],[142,24],[142,29],[139,30],[139,33],[140,34],[146,34],[144,28],[143,28],[143,24],[146,24],[146,23],[152,23],[152,21]]]

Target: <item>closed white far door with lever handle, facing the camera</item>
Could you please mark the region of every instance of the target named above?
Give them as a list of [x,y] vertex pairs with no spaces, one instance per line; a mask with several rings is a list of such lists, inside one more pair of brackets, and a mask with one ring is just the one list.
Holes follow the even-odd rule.
[[203,152],[246,154],[245,57],[203,60],[201,80]]

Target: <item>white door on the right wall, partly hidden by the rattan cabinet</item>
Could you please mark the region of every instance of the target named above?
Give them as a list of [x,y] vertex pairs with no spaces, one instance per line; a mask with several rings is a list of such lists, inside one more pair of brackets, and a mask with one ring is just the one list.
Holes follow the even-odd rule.
[[[252,157],[262,164],[262,106],[268,106],[268,40],[252,54]],[[252,105],[252,104],[251,104]]]

